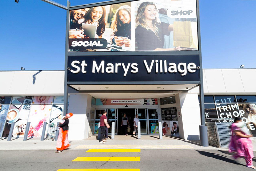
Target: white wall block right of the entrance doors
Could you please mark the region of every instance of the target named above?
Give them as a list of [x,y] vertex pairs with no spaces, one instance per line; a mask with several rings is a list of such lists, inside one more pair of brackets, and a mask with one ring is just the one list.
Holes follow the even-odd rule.
[[196,93],[179,93],[175,95],[180,138],[185,140],[199,140],[200,108]]

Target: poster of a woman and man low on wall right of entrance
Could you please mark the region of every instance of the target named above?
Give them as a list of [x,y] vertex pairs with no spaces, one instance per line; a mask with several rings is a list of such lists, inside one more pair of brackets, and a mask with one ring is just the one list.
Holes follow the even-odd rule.
[[180,136],[178,121],[162,121],[163,135]]

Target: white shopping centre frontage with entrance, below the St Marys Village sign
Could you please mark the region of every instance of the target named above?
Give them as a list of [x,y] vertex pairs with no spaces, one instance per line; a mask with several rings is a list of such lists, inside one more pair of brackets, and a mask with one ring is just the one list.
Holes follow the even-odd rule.
[[[204,69],[206,122],[230,122],[228,119],[240,116],[255,135],[255,73],[256,69]],[[43,122],[49,127],[57,124],[63,115],[64,71],[2,71],[0,77],[2,136],[8,136],[12,122],[13,137],[22,137],[27,122],[31,122],[29,136],[36,137],[42,136]],[[131,129],[138,114],[142,135],[158,135],[162,129],[166,136],[198,140],[198,95],[199,87],[191,84],[70,86],[68,113],[74,116],[70,118],[69,139],[97,135],[100,116],[106,110],[115,122],[116,135],[123,135],[121,118],[126,113]]]

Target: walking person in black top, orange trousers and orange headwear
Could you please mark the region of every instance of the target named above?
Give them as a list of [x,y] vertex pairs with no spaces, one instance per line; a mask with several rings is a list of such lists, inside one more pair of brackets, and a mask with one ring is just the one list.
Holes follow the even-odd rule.
[[73,113],[68,113],[66,116],[63,117],[63,122],[61,122],[58,126],[59,129],[59,136],[57,140],[57,151],[55,153],[62,152],[62,150],[66,150],[69,147],[69,141],[67,139],[68,137],[68,123],[70,118],[73,116]]

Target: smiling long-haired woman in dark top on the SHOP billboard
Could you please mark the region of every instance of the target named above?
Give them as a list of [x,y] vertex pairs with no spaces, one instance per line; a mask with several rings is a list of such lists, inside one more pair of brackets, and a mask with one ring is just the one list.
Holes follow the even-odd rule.
[[138,50],[184,50],[180,47],[164,49],[165,37],[173,31],[173,24],[161,22],[154,2],[142,2],[136,16],[135,40]]

